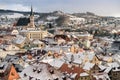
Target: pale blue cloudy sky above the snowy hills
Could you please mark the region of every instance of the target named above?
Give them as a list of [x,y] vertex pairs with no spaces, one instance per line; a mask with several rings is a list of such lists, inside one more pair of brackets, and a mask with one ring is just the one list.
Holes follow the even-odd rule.
[[66,13],[93,12],[101,16],[120,17],[120,0],[0,0],[0,9]]

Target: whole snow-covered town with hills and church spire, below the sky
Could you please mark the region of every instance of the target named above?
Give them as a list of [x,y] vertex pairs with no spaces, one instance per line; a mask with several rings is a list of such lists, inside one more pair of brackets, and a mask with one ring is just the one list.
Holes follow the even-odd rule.
[[120,80],[119,27],[91,12],[0,10],[0,80]]

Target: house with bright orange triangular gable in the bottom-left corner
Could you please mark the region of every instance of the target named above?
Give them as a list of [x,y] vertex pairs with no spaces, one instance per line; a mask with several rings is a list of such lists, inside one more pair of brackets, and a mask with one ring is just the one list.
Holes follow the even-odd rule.
[[19,78],[19,74],[11,63],[3,62],[0,64],[0,80],[14,80]]

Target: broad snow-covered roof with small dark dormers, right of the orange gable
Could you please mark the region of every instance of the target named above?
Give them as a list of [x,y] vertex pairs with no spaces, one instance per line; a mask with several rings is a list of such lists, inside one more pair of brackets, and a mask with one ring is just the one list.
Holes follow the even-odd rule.
[[34,63],[20,73],[22,80],[63,80],[62,76],[62,73],[42,62]]

